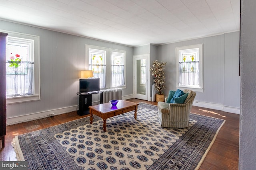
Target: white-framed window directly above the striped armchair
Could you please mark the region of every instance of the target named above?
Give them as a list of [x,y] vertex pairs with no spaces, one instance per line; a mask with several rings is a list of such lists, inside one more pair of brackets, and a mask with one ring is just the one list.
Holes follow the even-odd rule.
[[203,91],[202,44],[176,48],[176,86]]

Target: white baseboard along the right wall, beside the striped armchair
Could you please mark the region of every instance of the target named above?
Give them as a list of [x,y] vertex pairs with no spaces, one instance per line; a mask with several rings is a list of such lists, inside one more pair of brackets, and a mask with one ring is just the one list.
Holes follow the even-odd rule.
[[225,111],[225,112],[229,112],[229,113],[240,114],[240,108],[224,106],[222,104],[194,101],[193,106],[204,107],[204,108],[208,108],[208,109],[216,109],[216,110],[221,110],[221,111]]

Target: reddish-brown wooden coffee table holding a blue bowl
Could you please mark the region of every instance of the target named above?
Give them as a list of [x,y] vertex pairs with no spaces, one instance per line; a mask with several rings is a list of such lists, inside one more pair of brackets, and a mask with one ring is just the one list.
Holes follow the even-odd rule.
[[116,106],[111,103],[98,104],[89,106],[90,109],[90,123],[92,124],[92,115],[97,115],[103,119],[103,131],[106,132],[106,120],[110,117],[126,113],[134,110],[134,119],[137,119],[138,105],[126,100],[120,100]]

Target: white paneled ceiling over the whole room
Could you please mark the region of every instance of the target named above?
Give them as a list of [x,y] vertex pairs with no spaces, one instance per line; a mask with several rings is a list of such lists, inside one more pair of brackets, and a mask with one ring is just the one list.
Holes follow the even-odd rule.
[[134,47],[238,31],[240,0],[0,0],[0,18]]

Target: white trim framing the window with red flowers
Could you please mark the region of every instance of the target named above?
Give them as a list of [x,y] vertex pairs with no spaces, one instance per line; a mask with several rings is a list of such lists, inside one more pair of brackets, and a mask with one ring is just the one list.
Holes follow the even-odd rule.
[[[7,30],[0,30],[0,31],[8,33],[8,36],[10,37],[34,40],[34,49],[32,49],[32,53],[34,53],[34,94],[29,96],[17,96],[17,97],[7,98],[6,104],[16,104],[16,103],[40,100],[41,99],[41,96],[40,96],[40,36],[19,33],[14,31],[7,31]],[[7,37],[6,43],[8,43],[8,37]]]

